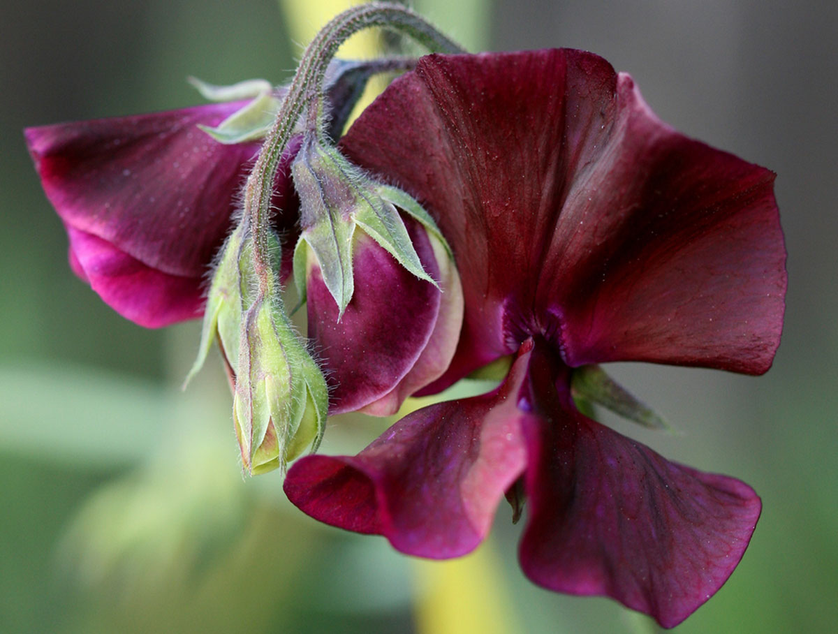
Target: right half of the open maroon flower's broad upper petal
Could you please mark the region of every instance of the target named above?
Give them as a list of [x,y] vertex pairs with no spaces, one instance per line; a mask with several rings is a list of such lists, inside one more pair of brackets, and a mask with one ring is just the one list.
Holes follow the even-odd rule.
[[[563,226],[588,229],[556,232],[553,275],[541,279],[567,297],[567,362],[765,372],[786,288],[774,174],[665,126],[629,75],[619,75],[616,100],[607,154],[562,213]],[[572,274],[557,274],[560,262]],[[539,301],[556,306],[548,293]]]

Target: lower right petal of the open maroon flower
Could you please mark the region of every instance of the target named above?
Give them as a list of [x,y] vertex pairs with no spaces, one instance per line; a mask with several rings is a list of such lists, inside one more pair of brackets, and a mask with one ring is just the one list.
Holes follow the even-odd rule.
[[736,568],[759,498],[743,482],[666,461],[579,414],[562,374],[536,350],[530,402],[540,417],[523,421],[521,567],[551,590],[608,595],[675,626]]

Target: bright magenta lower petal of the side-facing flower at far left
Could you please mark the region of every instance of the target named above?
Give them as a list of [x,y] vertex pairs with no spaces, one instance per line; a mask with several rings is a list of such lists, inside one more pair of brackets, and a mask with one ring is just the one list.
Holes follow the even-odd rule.
[[204,297],[191,277],[144,265],[96,235],[67,227],[70,266],[122,317],[156,328],[199,317]]

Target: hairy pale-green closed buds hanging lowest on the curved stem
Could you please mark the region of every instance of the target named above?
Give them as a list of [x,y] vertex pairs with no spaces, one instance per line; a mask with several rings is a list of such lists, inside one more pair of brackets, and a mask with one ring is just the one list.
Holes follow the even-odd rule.
[[[273,271],[278,243],[272,240]],[[282,306],[273,272],[260,279],[254,240],[241,224],[227,240],[209,289],[204,329],[191,377],[217,339],[234,384],[233,420],[241,460],[251,475],[284,470],[323,437],[328,392],[323,373]],[[260,282],[263,284],[258,291]]]

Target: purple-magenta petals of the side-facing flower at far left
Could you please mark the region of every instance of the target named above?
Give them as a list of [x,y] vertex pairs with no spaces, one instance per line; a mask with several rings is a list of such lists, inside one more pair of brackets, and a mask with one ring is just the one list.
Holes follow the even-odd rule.
[[[200,294],[209,263],[230,230],[235,198],[259,144],[223,145],[197,125],[213,126],[242,103],[25,131],[44,191],[65,225],[104,241],[114,254],[132,261],[132,292],[140,299],[116,286],[114,292],[101,292],[113,286],[104,278],[96,288],[111,307],[132,321],[164,326],[185,315],[199,316],[199,310],[184,312],[182,305]],[[287,149],[286,165],[298,144],[297,139]],[[287,227],[296,221],[296,200],[289,188],[287,174],[281,170],[276,204],[286,201],[284,206],[293,208],[279,219]],[[72,252],[79,260],[99,260],[105,248],[96,243],[88,257],[82,250],[93,244],[91,240],[75,242]],[[77,264],[71,259],[79,272]],[[147,299],[151,296],[153,301]],[[157,307],[160,313],[137,312],[142,305],[149,310]]]

